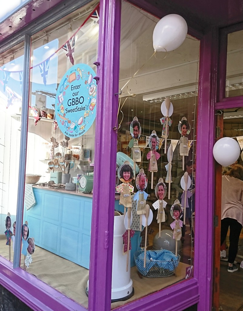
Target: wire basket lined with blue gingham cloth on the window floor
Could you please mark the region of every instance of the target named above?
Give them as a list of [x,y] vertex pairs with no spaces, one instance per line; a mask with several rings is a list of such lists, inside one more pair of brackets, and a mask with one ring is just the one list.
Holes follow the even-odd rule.
[[146,277],[165,277],[176,275],[176,268],[180,261],[180,255],[166,250],[146,251],[146,267],[144,268],[144,250],[136,251],[134,259],[137,270]]

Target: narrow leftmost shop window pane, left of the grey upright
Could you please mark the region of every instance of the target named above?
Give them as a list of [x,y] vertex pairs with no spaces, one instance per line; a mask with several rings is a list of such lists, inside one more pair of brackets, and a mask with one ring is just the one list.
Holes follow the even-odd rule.
[[13,261],[20,159],[24,43],[2,53],[0,66],[0,255]]

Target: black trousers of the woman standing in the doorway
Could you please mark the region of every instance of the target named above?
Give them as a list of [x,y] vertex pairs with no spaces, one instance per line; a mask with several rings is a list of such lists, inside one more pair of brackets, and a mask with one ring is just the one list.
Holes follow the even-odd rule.
[[232,218],[224,218],[221,220],[221,236],[220,236],[220,245],[223,244],[226,239],[228,228],[230,228],[229,234],[229,256],[228,262],[233,263],[236,259],[237,251],[238,251],[238,243],[239,237],[241,234],[242,225],[236,220]]

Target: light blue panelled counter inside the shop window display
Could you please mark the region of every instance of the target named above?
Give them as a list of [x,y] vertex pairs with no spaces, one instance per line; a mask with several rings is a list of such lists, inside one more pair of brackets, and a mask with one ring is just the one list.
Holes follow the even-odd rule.
[[[92,195],[38,186],[33,186],[33,192],[36,205],[24,209],[23,219],[28,221],[29,237],[34,237],[37,246],[89,269]],[[115,209],[124,211],[118,199]],[[140,240],[136,231],[131,239],[132,267]]]

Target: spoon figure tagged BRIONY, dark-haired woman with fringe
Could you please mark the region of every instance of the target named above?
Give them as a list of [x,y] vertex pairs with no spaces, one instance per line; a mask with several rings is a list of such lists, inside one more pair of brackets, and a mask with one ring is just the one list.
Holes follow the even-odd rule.
[[125,161],[118,169],[118,178],[122,182],[116,186],[116,191],[120,192],[119,204],[124,207],[132,207],[131,193],[133,193],[134,187],[130,184],[133,180],[133,168],[128,161]]

